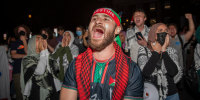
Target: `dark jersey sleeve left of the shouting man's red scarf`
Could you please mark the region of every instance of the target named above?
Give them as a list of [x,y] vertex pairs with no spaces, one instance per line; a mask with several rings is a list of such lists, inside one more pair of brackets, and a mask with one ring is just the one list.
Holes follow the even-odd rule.
[[69,68],[65,73],[63,88],[77,90],[76,73],[75,73],[75,59],[70,63]]

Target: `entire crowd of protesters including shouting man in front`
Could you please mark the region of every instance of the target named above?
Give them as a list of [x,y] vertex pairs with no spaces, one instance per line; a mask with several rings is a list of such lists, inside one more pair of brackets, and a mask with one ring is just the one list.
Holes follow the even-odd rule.
[[[95,10],[87,30],[59,26],[56,35],[46,27],[31,36],[29,27],[19,25],[14,37],[0,43],[0,100],[196,100],[200,26],[195,28],[192,14],[185,18],[182,34],[175,23],[148,27],[142,9],[134,11],[135,26],[127,30],[110,8]],[[197,94],[185,88],[191,68]]]

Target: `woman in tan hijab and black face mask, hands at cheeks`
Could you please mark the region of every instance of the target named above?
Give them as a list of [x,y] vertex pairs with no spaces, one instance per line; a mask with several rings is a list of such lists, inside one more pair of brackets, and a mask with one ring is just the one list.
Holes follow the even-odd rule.
[[169,45],[167,26],[154,24],[149,31],[147,47],[138,51],[138,65],[144,80],[149,80],[158,90],[159,100],[179,100],[175,83],[182,72],[178,63],[177,51]]

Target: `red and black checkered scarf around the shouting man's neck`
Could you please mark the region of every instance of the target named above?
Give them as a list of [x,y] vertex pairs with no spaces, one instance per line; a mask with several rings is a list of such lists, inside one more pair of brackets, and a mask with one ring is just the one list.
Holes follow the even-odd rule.
[[[116,61],[116,84],[114,86],[112,100],[121,100],[128,83],[129,66],[127,64],[126,55],[116,42],[114,42],[114,47]],[[91,48],[88,48],[76,59],[76,81],[80,100],[89,100],[90,98],[92,60],[93,56]]]

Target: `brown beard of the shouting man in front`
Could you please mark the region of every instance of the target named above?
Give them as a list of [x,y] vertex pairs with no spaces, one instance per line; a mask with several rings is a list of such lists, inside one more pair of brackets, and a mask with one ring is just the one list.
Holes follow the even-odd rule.
[[[107,34],[104,33],[104,35],[105,37],[103,38],[103,40],[95,40],[95,39],[92,40],[91,33],[89,32],[89,36],[88,36],[89,46],[93,50],[96,50],[96,51],[101,51],[104,48],[106,48],[108,45],[110,45],[114,41],[114,38],[115,38],[114,31]],[[99,41],[101,41],[101,43],[98,43]]]

